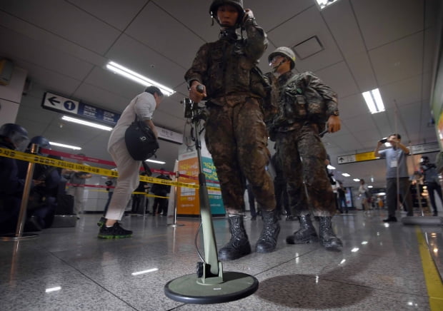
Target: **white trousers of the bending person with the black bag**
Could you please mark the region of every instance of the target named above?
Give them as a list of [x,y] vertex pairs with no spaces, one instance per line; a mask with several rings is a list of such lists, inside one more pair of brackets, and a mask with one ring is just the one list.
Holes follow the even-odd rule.
[[117,165],[119,178],[117,178],[117,185],[114,189],[114,194],[112,195],[105,218],[121,220],[126,205],[131,198],[131,193],[139,185],[141,161],[136,161],[131,158],[131,155],[129,155],[126,149],[124,139],[114,143],[114,145],[108,149],[108,152]]

